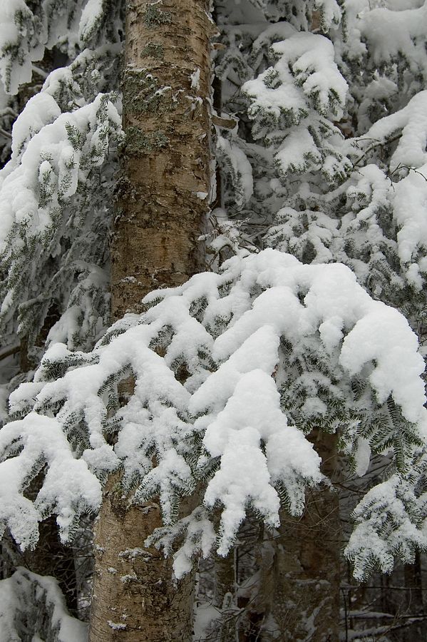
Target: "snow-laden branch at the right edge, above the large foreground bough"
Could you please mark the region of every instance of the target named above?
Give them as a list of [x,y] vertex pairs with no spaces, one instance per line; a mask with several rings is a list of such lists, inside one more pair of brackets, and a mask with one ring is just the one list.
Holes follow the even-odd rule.
[[[403,279],[416,290],[421,290],[426,275],[427,250],[427,91],[420,91],[410,101],[389,116],[374,123],[366,135],[350,141],[356,150],[356,163],[364,156],[374,154],[381,144],[394,141],[389,159],[389,170],[367,163],[358,168],[354,184],[347,195],[354,199],[356,218],[350,223],[343,220],[342,233],[354,233],[358,226],[369,224],[369,242],[372,247],[389,250],[396,245]],[[360,207],[360,198],[368,203]],[[363,203],[363,201],[362,201]],[[387,210],[396,226],[396,240],[384,238],[379,225],[379,213]],[[353,230],[353,231],[351,231]],[[384,249],[383,249],[384,248]],[[389,250],[390,251],[390,250]],[[396,275],[396,285],[398,285]]]

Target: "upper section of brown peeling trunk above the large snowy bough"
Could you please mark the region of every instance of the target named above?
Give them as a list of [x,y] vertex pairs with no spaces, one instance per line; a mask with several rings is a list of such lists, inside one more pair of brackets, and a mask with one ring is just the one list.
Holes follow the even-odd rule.
[[113,317],[202,267],[210,192],[207,0],[129,3],[125,148],[112,261]]

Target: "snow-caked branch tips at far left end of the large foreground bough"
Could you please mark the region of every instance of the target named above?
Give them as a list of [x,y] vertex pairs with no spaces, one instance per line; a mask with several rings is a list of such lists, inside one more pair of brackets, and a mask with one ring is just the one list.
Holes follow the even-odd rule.
[[[76,515],[85,509],[98,510],[101,504],[98,479],[88,471],[83,459],[75,459],[56,419],[33,412],[20,422],[6,424],[0,437],[2,457],[9,453],[11,442],[14,449],[22,448],[19,457],[6,459],[0,466],[2,528],[9,524],[11,534],[24,549],[36,543],[37,522],[41,516],[55,513],[61,538],[68,539]],[[38,472],[43,462],[48,465],[46,476],[33,504],[21,495],[21,491],[27,477]],[[14,516],[14,505],[19,506],[20,519]]]

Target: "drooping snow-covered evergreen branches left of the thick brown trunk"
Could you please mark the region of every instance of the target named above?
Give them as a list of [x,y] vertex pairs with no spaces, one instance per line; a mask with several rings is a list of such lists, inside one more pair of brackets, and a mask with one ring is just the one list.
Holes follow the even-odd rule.
[[[106,56],[101,49],[83,52],[77,68],[101,64],[99,57]],[[28,327],[40,332],[49,297],[56,297],[63,312],[49,340],[87,347],[106,323],[106,240],[100,245],[94,237],[108,226],[110,205],[93,181],[99,183],[97,172],[105,165],[103,185],[111,182],[108,166],[114,163],[121,118],[105,94],[84,104],[71,67],[54,71],[27,103],[14,125],[12,158],[0,171],[0,326],[6,341]],[[69,108],[68,98],[83,106],[61,113],[64,101]],[[81,205],[89,198],[90,215]]]

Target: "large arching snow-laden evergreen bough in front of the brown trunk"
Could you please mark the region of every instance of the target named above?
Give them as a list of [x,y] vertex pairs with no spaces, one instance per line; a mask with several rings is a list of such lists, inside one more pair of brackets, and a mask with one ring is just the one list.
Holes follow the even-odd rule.
[[[399,477],[425,442],[416,336],[344,265],[264,250],[145,304],[92,352],[52,345],[34,382],[11,395],[24,418],[0,432],[0,516],[22,546],[50,514],[68,539],[121,470],[123,496],[160,496],[160,544],[185,531],[179,575],[216,537],[226,554],[248,509],[269,526],[281,500],[302,514],[304,487],[327,482],[304,437],[312,429],[337,432],[359,474],[371,450],[387,450]],[[25,489],[41,469],[31,501]],[[180,498],[200,484],[203,507],[177,524]]]

